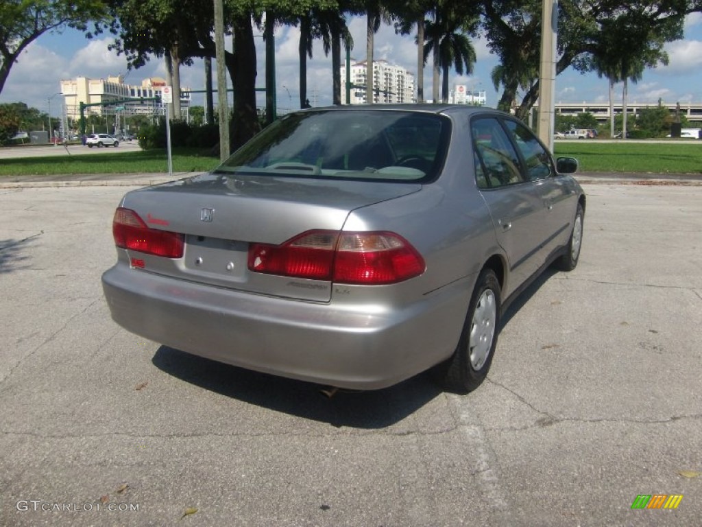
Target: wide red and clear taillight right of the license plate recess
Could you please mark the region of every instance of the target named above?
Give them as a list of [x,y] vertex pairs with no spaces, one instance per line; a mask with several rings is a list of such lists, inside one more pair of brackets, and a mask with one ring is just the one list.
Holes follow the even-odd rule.
[[256,273],[383,285],[422,274],[425,263],[395,233],[337,233],[312,230],[282,245],[251,244],[249,270]]

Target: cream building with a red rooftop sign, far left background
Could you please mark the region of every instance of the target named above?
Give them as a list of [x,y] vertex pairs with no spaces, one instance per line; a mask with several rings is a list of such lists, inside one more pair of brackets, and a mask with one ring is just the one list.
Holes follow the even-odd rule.
[[[88,77],[78,77],[61,81],[61,93],[63,94],[67,117],[77,119],[80,116],[80,103],[109,103],[114,100],[124,100],[128,98],[153,98],[161,96],[161,90],[166,86],[166,81],[159,77],[145,79],[140,86],[124,84],[121,75],[117,77],[107,77],[107,79],[89,79]],[[180,89],[180,106],[183,115],[187,115],[190,107],[190,89]],[[126,115],[163,115],[164,105],[155,100],[135,100],[128,103],[116,103],[114,106],[90,106],[86,108],[86,115],[109,114],[114,115],[121,112]]]

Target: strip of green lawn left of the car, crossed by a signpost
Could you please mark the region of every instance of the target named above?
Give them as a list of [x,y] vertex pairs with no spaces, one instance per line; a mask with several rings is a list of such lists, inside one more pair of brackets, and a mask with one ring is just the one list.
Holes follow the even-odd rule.
[[[219,164],[219,157],[201,150],[173,151],[174,172],[204,172]],[[167,172],[165,150],[74,154],[47,157],[18,157],[0,161],[1,176],[53,174],[150,174]]]

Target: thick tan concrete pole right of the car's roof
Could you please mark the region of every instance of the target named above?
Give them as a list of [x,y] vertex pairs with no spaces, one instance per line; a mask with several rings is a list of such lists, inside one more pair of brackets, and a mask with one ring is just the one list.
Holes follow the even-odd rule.
[[541,15],[541,70],[538,79],[538,138],[553,152],[555,127],[556,43],[558,0],[543,0]]

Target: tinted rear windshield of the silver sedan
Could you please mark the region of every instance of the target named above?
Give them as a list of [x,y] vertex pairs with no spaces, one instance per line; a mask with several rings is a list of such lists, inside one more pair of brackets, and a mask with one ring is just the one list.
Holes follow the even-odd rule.
[[398,110],[320,110],[286,115],[216,173],[430,181],[444,162],[449,119]]

